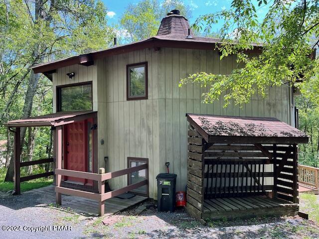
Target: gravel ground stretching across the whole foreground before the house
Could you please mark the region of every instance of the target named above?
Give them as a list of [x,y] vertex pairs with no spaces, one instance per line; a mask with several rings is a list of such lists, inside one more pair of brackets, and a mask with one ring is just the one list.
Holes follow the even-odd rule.
[[[35,193],[0,199],[0,226],[21,226],[21,231],[0,229],[0,239],[319,239],[319,225],[299,217],[224,220],[203,225],[182,209],[161,213],[148,202],[104,218],[86,218],[48,206],[48,202],[45,195]],[[24,226],[48,226],[50,231],[29,232],[24,231]],[[62,228],[66,231],[53,231],[53,226],[69,226],[72,231],[67,231],[67,227]]]

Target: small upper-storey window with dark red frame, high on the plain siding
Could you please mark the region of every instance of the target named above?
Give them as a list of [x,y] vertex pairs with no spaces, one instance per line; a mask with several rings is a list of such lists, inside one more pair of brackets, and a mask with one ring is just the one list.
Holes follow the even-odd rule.
[[127,100],[148,99],[148,63],[127,66]]

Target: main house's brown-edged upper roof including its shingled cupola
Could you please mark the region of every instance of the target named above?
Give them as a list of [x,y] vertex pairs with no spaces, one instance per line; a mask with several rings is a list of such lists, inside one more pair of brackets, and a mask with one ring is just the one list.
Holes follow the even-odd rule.
[[[179,11],[173,10],[172,12],[176,13]],[[187,19],[179,14],[171,14],[172,12],[161,20],[160,28],[156,36],[129,44],[115,45],[101,51],[94,51],[87,54],[39,64],[31,69],[34,73],[44,73],[48,76],[48,78],[50,78],[50,74],[54,73],[56,69],[61,67],[75,64],[89,66],[94,63],[94,60],[135,50],[145,48],[158,49],[160,47],[212,50],[215,48],[215,44],[222,43],[221,39],[211,37],[192,36],[192,38],[186,38],[189,28]],[[261,50],[260,44],[252,45],[256,46],[255,50]]]

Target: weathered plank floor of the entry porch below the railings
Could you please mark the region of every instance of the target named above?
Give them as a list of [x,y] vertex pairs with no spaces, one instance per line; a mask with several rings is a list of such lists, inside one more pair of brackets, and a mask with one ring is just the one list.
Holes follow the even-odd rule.
[[[55,192],[54,186],[47,186],[43,188],[33,189],[31,191],[24,192],[26,193],[40,193],[45,195],[46,199],[49,199],[51,203],[55,204]],[[142,197],[136,195],[131,199],[120,199],[120,198],[110,198],[105,201],[105,216],[110,216],[112,214],[118,213],[123,211],[129,207],[132,207],[138,203],[147,200],[147,197]],[[99,211],[99,203],[97,201],[76,197],[76,196],[69,196],[69,195],[62,195],[62,207],[71,208],[77,212],[83,212],[89,214],[91,216],[98,216]]]

